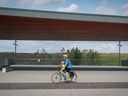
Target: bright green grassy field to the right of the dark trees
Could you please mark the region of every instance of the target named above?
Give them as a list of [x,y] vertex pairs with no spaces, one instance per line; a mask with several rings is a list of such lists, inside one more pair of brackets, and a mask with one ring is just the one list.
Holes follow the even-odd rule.
[[[128,53],[120,55],[121,60],[128,60]],[[86,58],[81,60],[81,65],[120,66],[118,53],[100,53],[96,63],[89,64]]]

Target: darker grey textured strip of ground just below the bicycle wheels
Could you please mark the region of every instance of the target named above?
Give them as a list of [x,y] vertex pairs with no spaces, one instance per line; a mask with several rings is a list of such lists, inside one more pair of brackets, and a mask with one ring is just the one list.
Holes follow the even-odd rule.
[[128,82],[0,83],[0,90],[128,88]]

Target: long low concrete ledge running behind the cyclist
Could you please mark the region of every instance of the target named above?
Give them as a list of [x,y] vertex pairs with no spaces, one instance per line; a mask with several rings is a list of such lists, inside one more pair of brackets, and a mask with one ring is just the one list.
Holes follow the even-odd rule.
[[[11,65],[13,70],[57,70],[56,65]],[[73,66],[73,70],[80,71],[128,71],[125,66]]]

